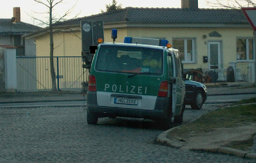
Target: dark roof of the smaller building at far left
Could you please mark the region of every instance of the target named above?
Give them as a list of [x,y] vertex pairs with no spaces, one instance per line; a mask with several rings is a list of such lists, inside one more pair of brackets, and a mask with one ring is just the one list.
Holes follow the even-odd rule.
[[40,28],[24,22],[13,23],[11,19],[0,19],[0,35],[23,35],[38,31]]

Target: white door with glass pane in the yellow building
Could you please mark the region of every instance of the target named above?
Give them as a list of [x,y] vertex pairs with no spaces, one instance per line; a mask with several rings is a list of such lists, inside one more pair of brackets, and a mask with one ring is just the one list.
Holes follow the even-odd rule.
[[209,69],[218,69],[220,67],[220,41],[208,42],[208,66]]

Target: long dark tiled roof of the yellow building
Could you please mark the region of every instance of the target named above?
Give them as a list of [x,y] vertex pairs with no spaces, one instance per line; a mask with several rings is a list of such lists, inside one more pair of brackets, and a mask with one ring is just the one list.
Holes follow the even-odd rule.
[[79,25],[81,20],[103,20],[104,23],[247,23],[239,9],[124,8],[57,22],[55,26]]

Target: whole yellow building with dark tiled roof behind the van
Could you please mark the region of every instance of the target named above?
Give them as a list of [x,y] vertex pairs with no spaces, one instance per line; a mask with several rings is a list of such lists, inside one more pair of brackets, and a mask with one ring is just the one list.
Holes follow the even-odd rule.
[[[116,42],[123,42],[126,36],[168,39],[179,50],[186,69],[215,69],[218,80],[226,80],[226,69],[230,65],[239,67],[239,63],[245,63],[254,70],[253,30],[242,11],[199,9],[197,3],[197,0],[182,0],[181,8],[127,7],[57,22],[53,27],[54,44],[58,45],[54,55],[80,56],[81,21],[102,20],[104,41],[112,41],[112,28],[118,30]],[[25,35],[36,39],[38,56],[49,55],[49,48],[45,49],[49,47],[47,30],[48,27]],[[254,72],[248,72],[244,80],[254,81]]]

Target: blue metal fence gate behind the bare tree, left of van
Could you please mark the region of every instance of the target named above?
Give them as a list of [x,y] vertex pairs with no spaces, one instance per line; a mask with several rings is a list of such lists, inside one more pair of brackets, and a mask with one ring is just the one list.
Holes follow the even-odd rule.
[[[88,79],[80,56],[53,57],[58,90],[81,90],[82,81]],[[17,90],[51,90],[50,57],[17,57]],[[85,71],[85,72],[84,72]]]

